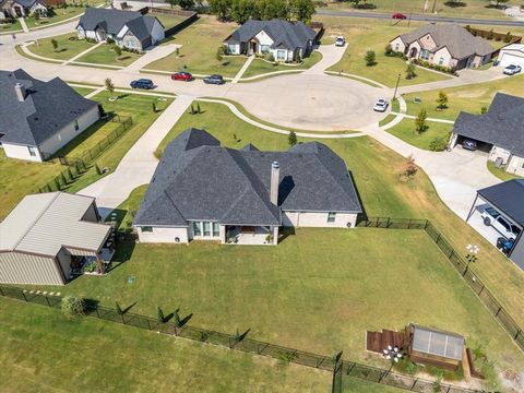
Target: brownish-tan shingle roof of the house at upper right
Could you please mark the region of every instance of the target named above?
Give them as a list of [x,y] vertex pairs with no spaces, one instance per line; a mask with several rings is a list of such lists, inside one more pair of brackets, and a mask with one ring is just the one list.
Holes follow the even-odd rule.
[[428,33],[438,47],[446,47],[455,59],[463,59],[472,55],[486,56],[495,50],[486,39],[475,37],[464,27],[454,23],[445,25],[427,24],[416,31],[402,34],[400,37],[404,44],[409,45]]

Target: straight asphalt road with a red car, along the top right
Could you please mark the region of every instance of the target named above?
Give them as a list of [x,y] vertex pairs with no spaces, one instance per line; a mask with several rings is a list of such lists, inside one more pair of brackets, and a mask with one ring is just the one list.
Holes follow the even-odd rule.
[[[326,16],[346,16],[346,17],[371,17],[391,20],[392,13],[377,13],[377,12],[357,12],[357,11],[344,11],[344,10],[318,10],[318,15]],[[484,20],[484,19],[467,19],[467,17],[450,17],[450,16],[436,16],[436,15],[412,15],[412,21],[420,22],[442,22],[442,23],[458,23],[458,24],[480,24],[480,25],[493,25],[493,26],[522,26],[522,21],[511,20]]]

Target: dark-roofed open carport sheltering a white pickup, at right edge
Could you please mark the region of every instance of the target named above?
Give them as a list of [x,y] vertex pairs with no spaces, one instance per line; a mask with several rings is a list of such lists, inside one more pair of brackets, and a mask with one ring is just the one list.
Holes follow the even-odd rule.
[[516,225],[521,229],[513,241],[513,247],[507,254],[510,260],[524,270],[524,179],[508,180],[478,190],[466,221],[472,217],[477,205],[481,203],[489,204],[507,222]]

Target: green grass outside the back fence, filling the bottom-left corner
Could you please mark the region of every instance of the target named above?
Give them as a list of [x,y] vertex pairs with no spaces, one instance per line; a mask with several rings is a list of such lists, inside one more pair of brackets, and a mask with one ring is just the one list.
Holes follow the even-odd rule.
[[0,298],[0,319],[2,392],[331,389],[329,372],[92,318],[66,318],[43,306]]

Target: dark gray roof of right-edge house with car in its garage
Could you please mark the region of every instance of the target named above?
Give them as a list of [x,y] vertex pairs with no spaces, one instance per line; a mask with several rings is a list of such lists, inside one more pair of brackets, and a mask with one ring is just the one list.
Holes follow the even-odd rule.
[[524,157],[524,98],[497,93],[486,114],[458,114],[453,132]]

